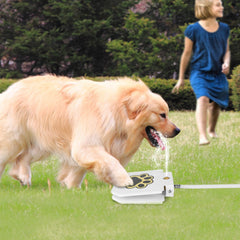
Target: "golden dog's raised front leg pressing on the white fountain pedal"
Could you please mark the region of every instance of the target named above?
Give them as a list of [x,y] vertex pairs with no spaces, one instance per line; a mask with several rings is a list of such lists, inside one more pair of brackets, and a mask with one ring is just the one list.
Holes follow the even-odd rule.
[[120,162],[105,151],[103,147],[85,147],[72,150],[73,159],[89,171],[92,171],[100,180],[114,186],[125,187],[133,181]]

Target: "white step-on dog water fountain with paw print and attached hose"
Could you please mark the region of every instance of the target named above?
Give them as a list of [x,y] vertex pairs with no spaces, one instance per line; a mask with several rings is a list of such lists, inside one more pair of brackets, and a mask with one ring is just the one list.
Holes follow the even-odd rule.
[[240,184],[174,185],[171,172],[149,170],[131,172],[134,184],[124,188],[113,187],[112,199],[121,204],[162,204],[165,197],[173,197],[174,189],[240,188]]

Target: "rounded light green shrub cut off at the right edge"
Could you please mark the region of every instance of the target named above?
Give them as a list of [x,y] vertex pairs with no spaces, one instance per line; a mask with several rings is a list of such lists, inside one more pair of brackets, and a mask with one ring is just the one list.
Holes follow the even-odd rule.
[[240,111],[240,65],[232,72],[232,95],[231,100],[235,111]]

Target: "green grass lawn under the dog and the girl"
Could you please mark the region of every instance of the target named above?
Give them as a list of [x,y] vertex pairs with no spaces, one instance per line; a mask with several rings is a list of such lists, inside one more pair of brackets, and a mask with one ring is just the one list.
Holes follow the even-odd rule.
[[[198,146],[194,112],[171,112],[181,134],[169,140],[169,171],[175,184],[240,183],[240,112],[222,112],[219,139]],[[128,171],[157,169],[146,141]],[[164,154],[159,165],[165,168]],[[32,187],[21,187],[7,171],[0,182],[0,239],[239,240],[240,189],[176,189],[162,205],[120,205],[109,186],[87,174],[88,191],[67,190],[55,181],[54,158],[32,166]],[[47,179],[51,181],[51,193]]]

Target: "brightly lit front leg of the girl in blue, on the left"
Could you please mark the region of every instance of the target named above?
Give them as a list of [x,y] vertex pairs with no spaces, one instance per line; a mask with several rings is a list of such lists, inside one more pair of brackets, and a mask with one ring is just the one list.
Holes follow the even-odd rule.
[[202,96],[197,100],[196,121],[199,131],[199,144],[209,144],[207,139],[207,112],[209,106],[209,98]]

